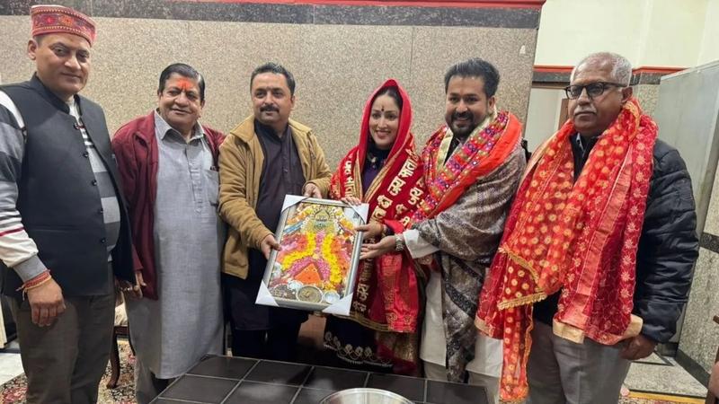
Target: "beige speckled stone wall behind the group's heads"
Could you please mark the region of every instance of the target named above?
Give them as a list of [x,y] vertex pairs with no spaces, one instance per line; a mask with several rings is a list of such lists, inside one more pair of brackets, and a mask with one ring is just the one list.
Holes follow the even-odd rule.
[[[499,105],[526,118],[537,31],[532,29],[191,22],[96,18],[98,40],[84,95],[105,109],[111,131],[155,107],[157,79],[173,62],[207,81],[202,121],[227,131],[250,113],[255,66],[277,61],[297,79],[293,118],[314,127],[336,164],[357,142],[362,107],[395,77],[413,101],[413,132],[423,142],[444,117],[448,66],[484,57],[500,70]],[[0,16],[3,83],[27,80],[27,16]]]

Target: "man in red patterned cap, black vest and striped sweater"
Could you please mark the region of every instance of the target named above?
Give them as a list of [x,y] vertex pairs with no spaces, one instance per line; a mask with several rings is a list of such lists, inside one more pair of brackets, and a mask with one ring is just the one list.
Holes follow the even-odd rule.
[[94,22],[31,8],[31,80],[0,87],[0,259],[29,403],[90,403],[110,353],[113,277],[136,287],[100,106],[79,96]]

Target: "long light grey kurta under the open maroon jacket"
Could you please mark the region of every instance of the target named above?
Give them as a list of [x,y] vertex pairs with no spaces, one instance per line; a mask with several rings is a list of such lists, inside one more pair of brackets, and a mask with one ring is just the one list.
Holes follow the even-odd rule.
[[218,177],[202,128],[189,143],[155,113],[159,155],[155,265],[159,300],[128,299],[138,360],[158,379],[185,373],[222,349]]

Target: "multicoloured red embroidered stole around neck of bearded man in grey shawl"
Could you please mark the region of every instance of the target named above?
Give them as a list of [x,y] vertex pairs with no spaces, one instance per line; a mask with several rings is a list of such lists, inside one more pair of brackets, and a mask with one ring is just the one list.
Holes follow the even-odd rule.
[[477,179],[502,165],[518,145],[521,127],[519,119],[508,111],[493,114],[446,163],[444,156],[451,131],[447,125],[439,127],[422,150],[427,195],[413,221],[432,218],[452,206]]

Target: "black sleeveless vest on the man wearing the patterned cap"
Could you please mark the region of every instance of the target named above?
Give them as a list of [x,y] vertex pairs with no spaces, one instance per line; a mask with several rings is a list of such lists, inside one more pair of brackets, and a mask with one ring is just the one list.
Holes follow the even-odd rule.
[[[17,209],[22,224],[40,251],[38,257],[62,287],[64,295],[107,294],[108,255],[100,193],[83,136],[67,103],[37,78],[2,87],[20,110],[27,128]],[[114,274],[134,282],[129,219],[120,178],[99,105],[76,96],[88,136],[110,172],[120,203],[120,237],[112,250]],[[3,270],[3,293],[17,296],[22,280]]]

